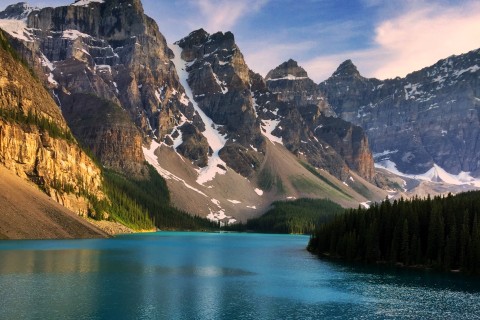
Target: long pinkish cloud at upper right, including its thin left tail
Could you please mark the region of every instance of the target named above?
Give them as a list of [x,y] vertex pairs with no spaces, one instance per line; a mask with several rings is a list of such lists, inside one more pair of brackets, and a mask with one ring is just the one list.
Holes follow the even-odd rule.
[[338,63],[352,59],[365,76],[394,78],[480,47],[480,3],[456,7],[422,3],[378,23],[371,48],[317,56],[304,62],[307,71],[314,80],[324,80]]

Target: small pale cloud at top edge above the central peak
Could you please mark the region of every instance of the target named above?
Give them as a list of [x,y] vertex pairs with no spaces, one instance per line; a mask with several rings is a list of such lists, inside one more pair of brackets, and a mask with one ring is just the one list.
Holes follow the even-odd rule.
[[258,12],[269,0],[196,0],[209,32],[228,31],[245,15]]

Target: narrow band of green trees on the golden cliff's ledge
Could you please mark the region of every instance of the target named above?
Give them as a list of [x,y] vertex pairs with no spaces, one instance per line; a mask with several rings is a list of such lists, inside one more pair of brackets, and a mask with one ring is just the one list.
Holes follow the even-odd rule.
[[70,130],[61,128],[54,121],[41,117],[37,113],[33,113],[32,110],[25,114],[21,110],[21,106],[15,109],[0,108],[0,118],[20,125],[35,125],[40,131],[47,132],[54,139],[64,139],[69,142],[75,141]]

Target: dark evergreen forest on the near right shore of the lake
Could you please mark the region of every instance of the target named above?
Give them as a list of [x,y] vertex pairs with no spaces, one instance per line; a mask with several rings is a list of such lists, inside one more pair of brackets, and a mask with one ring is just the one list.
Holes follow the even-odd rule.
[[346,261],[480,274],[480,192],[388,200],[320,228],[308,250]]

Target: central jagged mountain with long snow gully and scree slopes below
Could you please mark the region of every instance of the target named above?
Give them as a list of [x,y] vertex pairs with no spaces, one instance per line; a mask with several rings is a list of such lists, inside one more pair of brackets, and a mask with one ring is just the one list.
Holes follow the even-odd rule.
[[[173,166],[168,171],[175,172],[174,180],[183,184],[188,181],[189,186],[201,190],[203,195],[200,192],[195,195],[197,206],[206,195],[205,208],[209,208],[211,215],[221,216],[226,212],[244,220],[279,199],[329,197],[345,206],[358,206],[360,202],[384,196],[351,171],[328,143],[314,138],[297,104],[282,101],[278,93],[268,89],[260,75],[248,68],[232,33],[210,35],[202,29],[196,30],[177,41],[172,50],[186,97],[207,124],[205,128],[197,128],[206,138],[211,155],[207,165],[197,170],[198,176],[191,169],[190,175]],[[178,146],[182,141],[184,134],[176,135],[173,145],[180,153]],[[157,155],[166,169],[161,158]],[[182,166],[184,172],[188,170],[185,164]],[[358,183],[358,190],[375,191],[359,194],[332,175],[343,182],[349,178],[356,181],[350,183]],[[192,177],[197,177],[196,181]],[[173,192],[174,197],[182,194]],[[191,202],[186,195],[176,203]],[[208,204],[208,200],[215,205]]]

